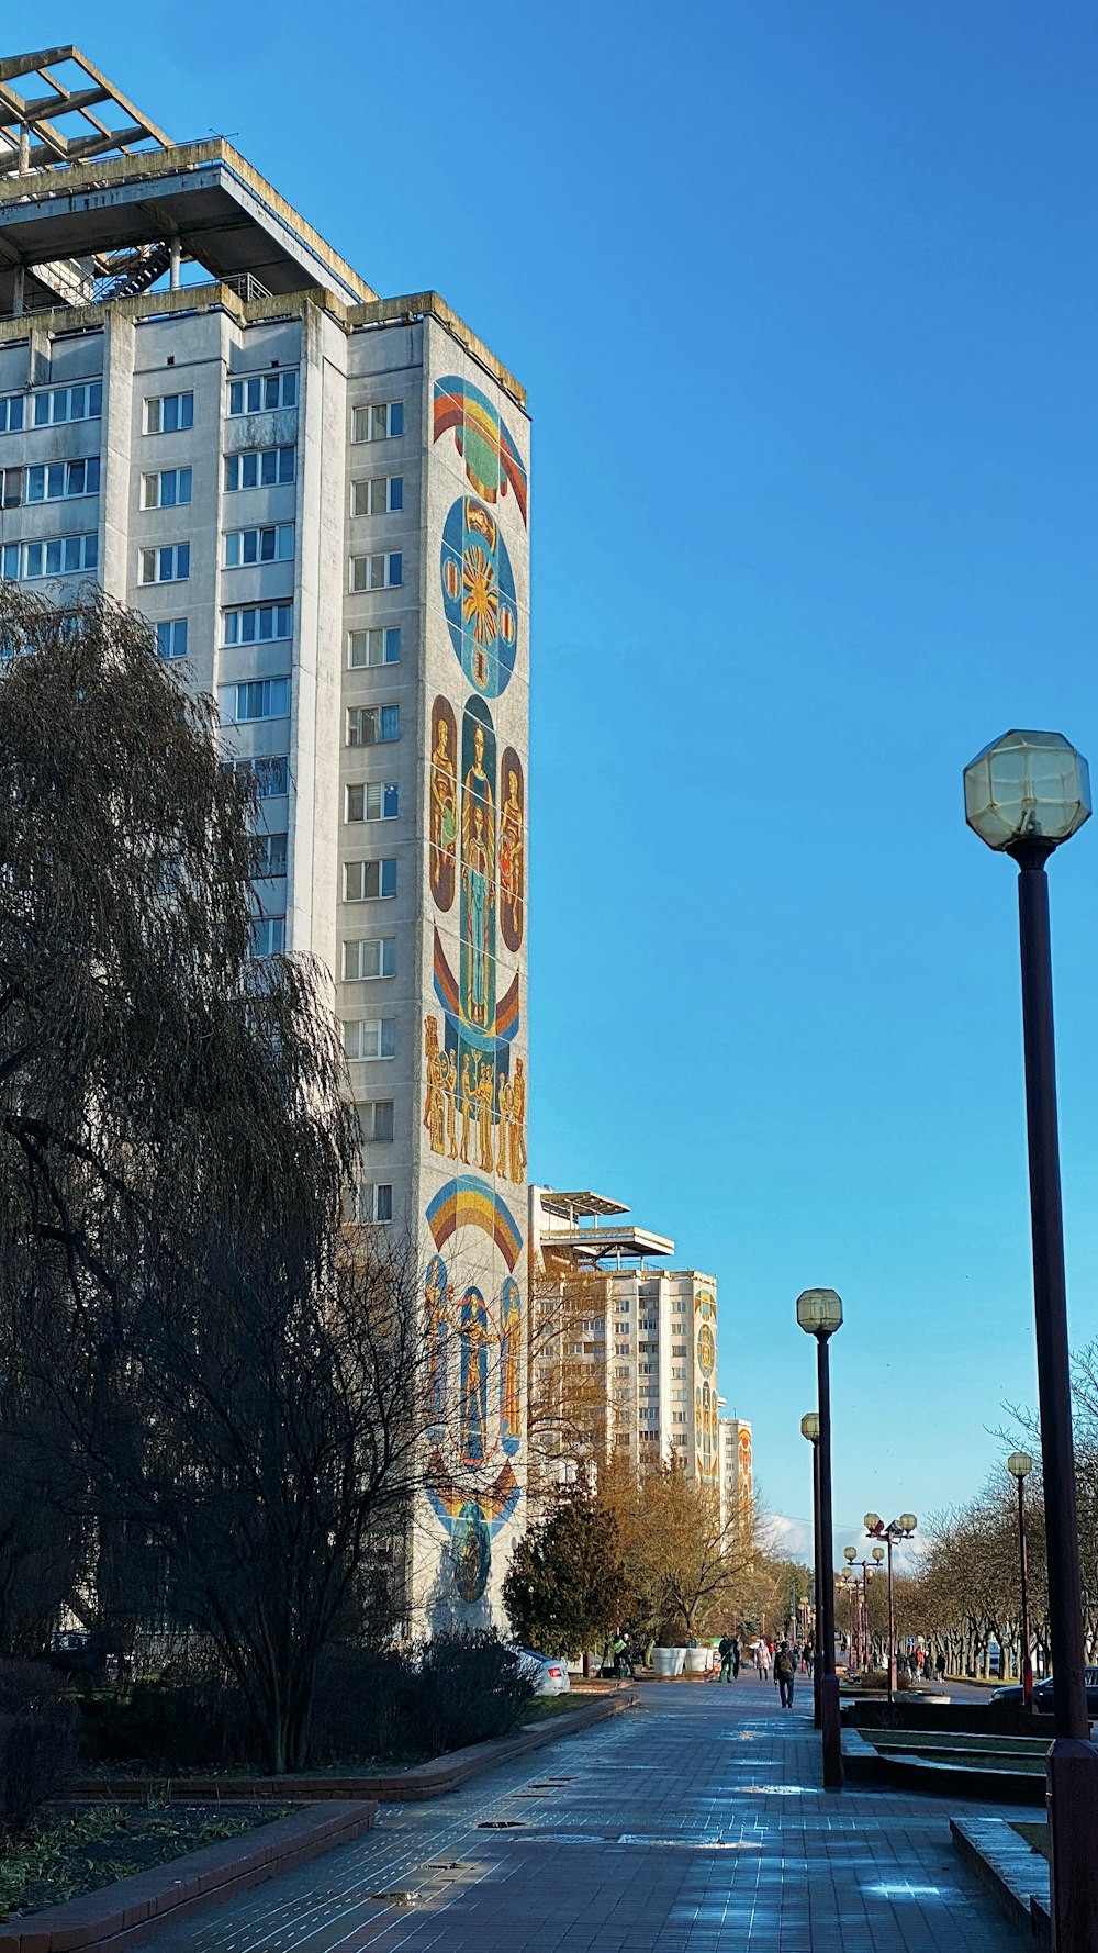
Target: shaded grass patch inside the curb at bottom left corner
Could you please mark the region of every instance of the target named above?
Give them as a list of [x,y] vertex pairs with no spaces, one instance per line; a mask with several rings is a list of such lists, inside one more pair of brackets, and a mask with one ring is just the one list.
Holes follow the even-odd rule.
[[289,1805],[92,1805],[43,1816],[0,1851],[0,1918],[41,1912],[283,1818]]

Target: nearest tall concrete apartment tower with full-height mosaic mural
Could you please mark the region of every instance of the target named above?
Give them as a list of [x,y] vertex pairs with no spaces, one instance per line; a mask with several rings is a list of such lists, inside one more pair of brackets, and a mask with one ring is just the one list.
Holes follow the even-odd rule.
[[432,1625],[490,1617],[522,1500],[528,482],[436,293],[78,49],[0,59],[0,574],[145,611],[256,775],[254,951],[328,969],[359,1217],[426,1273]]

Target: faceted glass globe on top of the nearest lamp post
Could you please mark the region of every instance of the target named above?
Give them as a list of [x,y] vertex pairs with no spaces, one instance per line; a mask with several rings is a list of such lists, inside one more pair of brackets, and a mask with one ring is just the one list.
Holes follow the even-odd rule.
[[1090,768],[1063,732],[1004,732],[965,768],[965,820],[989,848],[1057,848],[1090,818]]

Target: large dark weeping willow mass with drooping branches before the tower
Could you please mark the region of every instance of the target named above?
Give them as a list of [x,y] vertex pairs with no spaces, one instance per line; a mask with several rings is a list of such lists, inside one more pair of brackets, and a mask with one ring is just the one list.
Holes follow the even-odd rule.
[[0,1432],[100,1613],[211,1637],[293,1767],[414,1478],[412,1256],[340,1226],[324,978],[248,953],[252,787],[211,701],[102,596],[0,584]]

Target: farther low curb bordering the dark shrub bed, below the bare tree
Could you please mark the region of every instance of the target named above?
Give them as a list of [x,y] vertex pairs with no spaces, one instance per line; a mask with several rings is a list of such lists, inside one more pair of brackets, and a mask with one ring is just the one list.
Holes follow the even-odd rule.
[[[436,1756],[430,1764],[412,1764],[410,1769],[395,1769],[381,1775],[354,1777],[88,1777],[72,1785],[68,1797],[94,1797],[98,1803],[137,1803],[148,1797],[170,1803],[209,1805],[209,1803],[256,1803],[264,1797],[277,1797],[289,1803],[354,1803],[373,1799],[375,1803],[422,1803],[428,1797],[445,1797],[471,1777],[510,1764],[528,1750],[539,1750],[557,1736],[572,1736],[592,1723],[621,1715],[637,1705],[637,1695],[600,1695],[598,1701],[584,1703],[569,1715],[547,1717],[533,1728],[518,1736],[494,1736],[490,1742],[473,1742],[465,1750],[451,1750]],[[8,1953],[0,1939],[0,1953]],[[35,1949],[39,1953],[39,1949]],[[45,1953],[45,1947],[41,1949]],[[51,1949],[55,1953],[55,1949]]]

